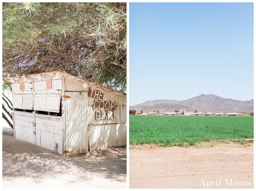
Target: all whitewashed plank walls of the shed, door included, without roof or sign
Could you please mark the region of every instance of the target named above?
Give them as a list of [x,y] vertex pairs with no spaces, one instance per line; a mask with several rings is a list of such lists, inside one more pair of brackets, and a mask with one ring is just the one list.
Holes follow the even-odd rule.
[[[112,118],[97,120],[95,111],[102,110],[93,107],[95,99],[88,98],[88,89],[82,83],[63,80],[51,80],[51,89],[46,89],[46,81],[26,82],[24,91],[20,90],[20,83],[12,84],[14,108],[49,112],[58,112],[61,108],[62,113],[61,117],[13,113],[15,138],[53,151],[53,143],[58,143],[58,153],[72,151],[64,155],[89,152],[89,145],[90,152],[126,145],[126,100],[93,87],[104,93],[102,101],[115,103]],[[69,97],[61,98],[61,95]]]

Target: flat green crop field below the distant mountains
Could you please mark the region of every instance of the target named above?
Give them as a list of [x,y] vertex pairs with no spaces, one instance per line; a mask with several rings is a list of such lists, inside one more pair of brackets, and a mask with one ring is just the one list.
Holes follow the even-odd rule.
[[129,116],[130,144],[189,146],[253,138],[253,116]]

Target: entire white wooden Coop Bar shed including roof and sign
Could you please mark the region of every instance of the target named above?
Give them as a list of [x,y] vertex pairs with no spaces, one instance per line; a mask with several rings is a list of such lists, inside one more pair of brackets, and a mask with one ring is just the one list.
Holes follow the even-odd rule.
[[64,156],[126,145],[125,93],[63,71],[4,79],[15,139]]

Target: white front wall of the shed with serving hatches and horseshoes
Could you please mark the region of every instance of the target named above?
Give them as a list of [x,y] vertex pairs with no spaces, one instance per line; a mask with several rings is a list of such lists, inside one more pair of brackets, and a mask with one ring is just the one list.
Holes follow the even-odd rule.
[[[62,79],[51,80],[51,89],[46,89],[46,81],[24,82],[24,91],[21,91],[20,84],[12,84],[13,108],[59,112]],[[13,116],[16,139],[52,151],[55,150],[54,143],[58,143],[57,152],[63,154],[62,117],[27,112],[14,112]]]

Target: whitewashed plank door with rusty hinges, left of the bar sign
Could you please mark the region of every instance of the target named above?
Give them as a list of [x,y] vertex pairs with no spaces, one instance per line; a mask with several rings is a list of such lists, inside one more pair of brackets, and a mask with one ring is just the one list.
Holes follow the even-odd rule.
[[65,92],[66,150],[68,153],[88,152],[88,131],[86,123],[87,92]]

